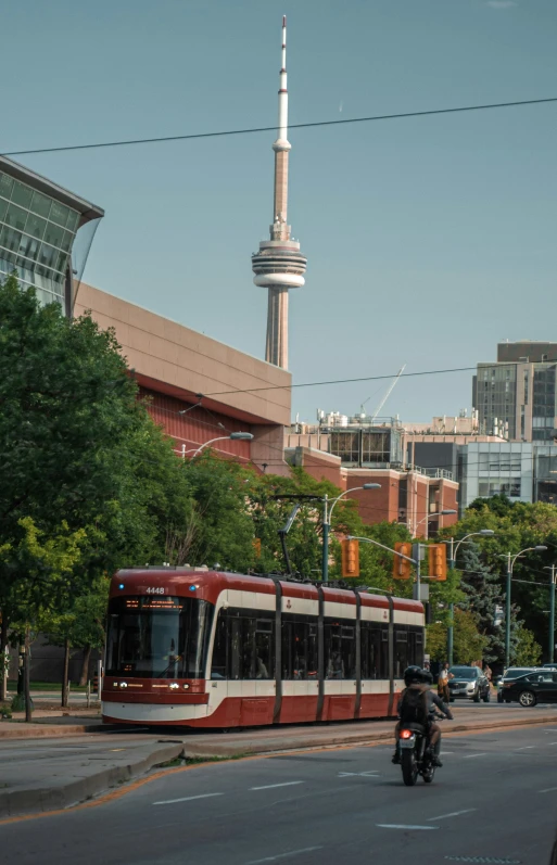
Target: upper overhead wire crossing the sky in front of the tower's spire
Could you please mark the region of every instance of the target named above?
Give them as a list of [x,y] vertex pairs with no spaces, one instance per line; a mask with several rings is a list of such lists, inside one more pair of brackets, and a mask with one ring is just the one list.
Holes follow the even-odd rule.
[[[443,114],[459,114],[472,111],[493,111],[496,109],[510,109],[521,105],[541,105],[544,103],[557,102],[557,97],[544,99],[520,99],[512,102],[492,102],[484,105],[460,105],[454,109],[431,109],[429,111],[407,111],[397,114],[376,114],[370,117],[343,117],[339,120],[315,120],[314,123],[294,123],[289,125],[289,129],[311,129],[324,126],[345,126],[354,123],[374,123],[377,120],[407,119],[410,117],[431,117]],[[226,136],[252,135],[254,132],[273,132],[276,126],[257,126],[245,129],[226,129],[217,132],[192,132],[180,136],[157,136],[156,138],[134,138],[116,141],[98,141],[89,144],[66,144],[55,148],[34,148],[33,150],[7,151],[2,156],[24,156],[33,153],[61,153],[68,150],[93,150],[100,148],[131,147],[134,144],[161,144],[167,141],[191,141],[199,138],[224,138]]]

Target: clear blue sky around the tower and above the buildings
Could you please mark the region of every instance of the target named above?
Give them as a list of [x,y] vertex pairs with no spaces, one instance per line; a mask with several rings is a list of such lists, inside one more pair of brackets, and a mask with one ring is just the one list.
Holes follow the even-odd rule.
[[[556,0],[21,0],[2,9],[0,150],[557,96]],[[342,112],[341,112],[342,107]],[[22,156],[106,211],[85,279],[262,357],[250,255],[274,136]],[[296,382],[473,366],[556,340],[557,104],[292,130]],[[385,412],[470,404],[471,373],[408,379]],[[294,392],[354,412],[387,384]]]

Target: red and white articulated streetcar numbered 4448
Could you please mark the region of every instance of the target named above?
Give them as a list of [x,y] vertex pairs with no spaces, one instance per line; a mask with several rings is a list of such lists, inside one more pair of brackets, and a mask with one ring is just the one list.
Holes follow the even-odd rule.
[[103,721],[248,727],[393,715],[423,662],[418,601],[288,577],[142,568],[112,580]]

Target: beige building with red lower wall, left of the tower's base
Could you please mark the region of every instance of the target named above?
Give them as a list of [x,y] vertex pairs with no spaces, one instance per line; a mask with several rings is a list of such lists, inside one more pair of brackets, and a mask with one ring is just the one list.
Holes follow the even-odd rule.
[[[101,328],[114,328],[141,394],[150,398],[149,411],[178,455],[218,438],[213,447],[224,457],[288,473],[289,372],[83,283],[75,315],[85,310]],[[250,432],[253,440],[230,441],[230,432]]]

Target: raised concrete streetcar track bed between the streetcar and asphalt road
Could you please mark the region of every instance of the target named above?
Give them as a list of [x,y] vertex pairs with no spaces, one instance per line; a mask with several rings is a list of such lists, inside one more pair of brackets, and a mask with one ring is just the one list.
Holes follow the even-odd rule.
[[[452,708],[455,721],[443,722],[442,726],[443,735],[448,737],[540,724],[557,727],[557,707]],[[121,728],[116,733],[114,728],[101,728],[96,716],[61,718],[50,714],[33,724],[1,722],[0,819],[68,807],[179,756],[226,759],[387,743],[393,740],[393,726],[392,721],[362,721],[225,734],[176,727],[151,733]],[[23,738],[25,742],[21,741]]]

